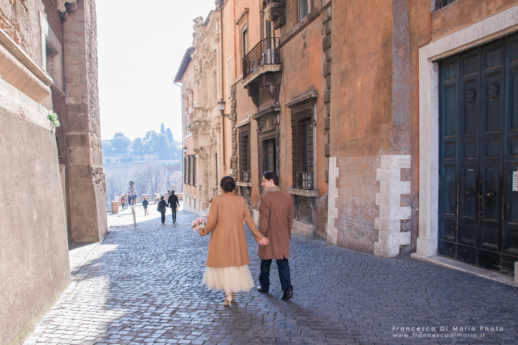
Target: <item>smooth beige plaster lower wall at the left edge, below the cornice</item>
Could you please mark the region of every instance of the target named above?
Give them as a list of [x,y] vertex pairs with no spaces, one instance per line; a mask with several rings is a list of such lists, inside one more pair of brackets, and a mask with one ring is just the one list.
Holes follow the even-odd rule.
[[70,281],[63,193],[47,114],[0,80],[2,344],[19,343],[30,333]]

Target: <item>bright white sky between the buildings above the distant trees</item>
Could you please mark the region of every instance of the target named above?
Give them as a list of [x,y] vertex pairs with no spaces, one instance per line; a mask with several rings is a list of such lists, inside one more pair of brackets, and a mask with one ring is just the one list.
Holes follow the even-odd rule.
[[214,0],[95,3],[101,138],[122,132],[133,140],[164,123],[181,141],[181,88],[173,82],[192,46],[192,20],[205,20]]

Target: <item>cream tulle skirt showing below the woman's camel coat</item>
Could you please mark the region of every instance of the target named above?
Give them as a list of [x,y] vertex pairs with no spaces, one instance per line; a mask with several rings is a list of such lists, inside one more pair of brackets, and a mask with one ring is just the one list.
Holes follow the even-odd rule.
[[248,265],[230,267],[205,266],[203,283],[210,290],[225,291],[225,293],[250,291],[254,281]]

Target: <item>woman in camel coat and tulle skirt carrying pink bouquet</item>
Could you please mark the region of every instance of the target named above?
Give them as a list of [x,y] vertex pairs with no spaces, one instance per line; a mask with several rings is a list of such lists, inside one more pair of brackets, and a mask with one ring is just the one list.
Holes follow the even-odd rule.
[[247,223],[255,241],[268,244],[250,217],[247,204],[234,193],[236,183],[231,176],[221,179],[222,192],[212,198],[205,228],[198,230],[202,236],[210,233],[209,250],[203,282],[207,289],[223,290],[223,305],[229,305],[234,292],[249,291],[254,281],[248,269],[247,238],[243,230],[243,220]]

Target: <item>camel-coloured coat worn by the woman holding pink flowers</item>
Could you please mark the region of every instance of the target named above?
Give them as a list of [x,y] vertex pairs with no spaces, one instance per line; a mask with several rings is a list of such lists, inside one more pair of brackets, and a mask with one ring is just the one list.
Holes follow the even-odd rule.
[[249,263],[247,238],[243,220],[250,228],[256,242],[264,238],[250,217],[248,206],[242,197],[233,192],[222,192],[209,200],[211,203],[207,224],[199,229],[202,236],[210,233],[206,266],[229,267]]

